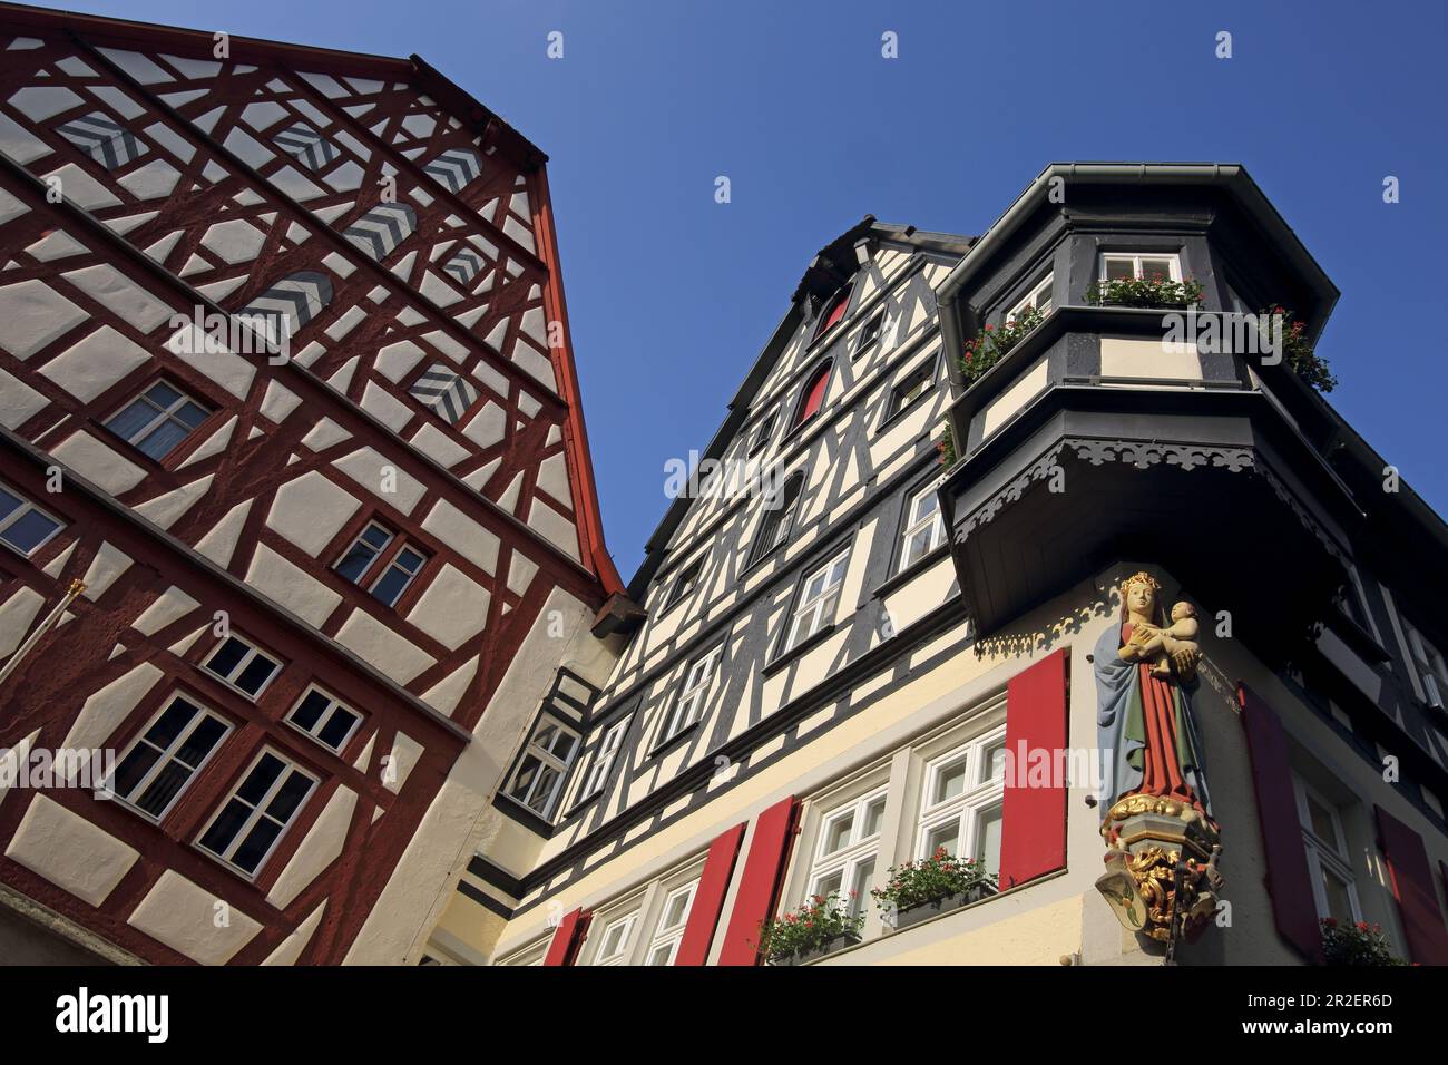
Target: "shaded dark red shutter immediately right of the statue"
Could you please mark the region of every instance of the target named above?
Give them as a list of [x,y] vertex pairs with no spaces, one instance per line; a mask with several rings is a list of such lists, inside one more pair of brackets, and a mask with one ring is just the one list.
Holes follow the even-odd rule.
[[1322,930],[1297,820],[1287,736],[1277,713],[1245,684],[1237,685],[1237,701],[1242,706],[1242,727],[1247,729],[1257,820],[1267,852],[1267,894],[1277,933],[1309,959],[1322,961]]

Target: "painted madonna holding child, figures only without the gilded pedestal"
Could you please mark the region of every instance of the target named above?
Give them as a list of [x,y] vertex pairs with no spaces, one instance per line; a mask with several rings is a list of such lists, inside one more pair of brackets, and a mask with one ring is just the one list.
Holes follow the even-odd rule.
[[1182,639],[1196,632],[1195,611],[1179,603],[1169,620],[1160,591],[1147,572],[1128,577],[1121,623],[1096,642],[1102,813],[1127,795],[1154,795],[1196,810],[1215,829],[1189,690],[1200,652]]

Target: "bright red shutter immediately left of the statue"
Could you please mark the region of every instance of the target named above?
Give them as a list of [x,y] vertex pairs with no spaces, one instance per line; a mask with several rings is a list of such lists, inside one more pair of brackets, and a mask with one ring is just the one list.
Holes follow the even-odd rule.
[[[1002,891],[1066,866],[1066,781],[1060,778],[1066,751],[1064,648],[1011,678],[1005,746],[1012,771],[1006,774],[1001,811]],[[1047,753],[1047,787],[1040,781],[1030,787],[1030,753],[1037,751]]]

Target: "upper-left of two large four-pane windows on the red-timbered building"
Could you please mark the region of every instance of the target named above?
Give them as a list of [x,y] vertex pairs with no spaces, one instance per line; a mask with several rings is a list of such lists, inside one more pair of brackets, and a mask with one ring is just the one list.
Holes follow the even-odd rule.
[[190,698],[172,696],[116,762],[110,790],[146,817],[161,820],[232,726]]

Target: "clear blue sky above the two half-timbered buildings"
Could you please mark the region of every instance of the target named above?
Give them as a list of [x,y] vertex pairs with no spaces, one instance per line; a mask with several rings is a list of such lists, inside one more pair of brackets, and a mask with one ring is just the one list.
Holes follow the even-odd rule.
[[[1319,348],[1341,383],[1331,401],[1448,510],[1444,267],[1431,258],[1448,236],[1442,0],[68,6],[417,52],[552,156],[624,580],[668,503],[665,461],[712,436],[821,245],[866,213],[979,233],[1051,161],[1245,164],[1342,290]],[[562,59],[546,57],[552,30]],[[885,30],[898,59],[880,57]],[[1219,30],[1231,59],[1213,55]]]

